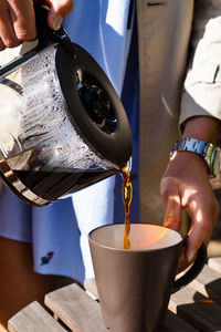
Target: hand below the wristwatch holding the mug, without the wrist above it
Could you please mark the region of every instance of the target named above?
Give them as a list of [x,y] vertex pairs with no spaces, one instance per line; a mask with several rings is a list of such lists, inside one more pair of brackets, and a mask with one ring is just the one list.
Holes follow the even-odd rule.
[[179,231],[182,208],[188,210],[191,219],[182,256],[183,267],[186,262],[192,262],[202,242],[209,242],[220,206],[209,183],[204,162],[194,154],[177,154],[161,179],[160,189],[166,205],[165,226]]

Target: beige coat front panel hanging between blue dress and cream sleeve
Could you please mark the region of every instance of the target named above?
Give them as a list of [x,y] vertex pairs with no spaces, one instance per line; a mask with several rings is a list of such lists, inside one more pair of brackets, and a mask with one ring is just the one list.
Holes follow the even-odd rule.
[[[159,183],[178,137],[178,116],[193,1],[137,0],[140,65],[140,222],[161,224]],[[147,6],[150,3],[150,6]],[[159,4],[161,3],[161,4]]]

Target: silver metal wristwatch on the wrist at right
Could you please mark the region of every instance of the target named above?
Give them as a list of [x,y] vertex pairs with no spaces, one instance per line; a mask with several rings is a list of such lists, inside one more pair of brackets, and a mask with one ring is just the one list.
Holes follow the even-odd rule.
[[200,155],[206,160],[211,177],[215,177],[220,172],[221,149],[212,143],[185,137],[175,143],[170,159],[176,151],[187,151]]

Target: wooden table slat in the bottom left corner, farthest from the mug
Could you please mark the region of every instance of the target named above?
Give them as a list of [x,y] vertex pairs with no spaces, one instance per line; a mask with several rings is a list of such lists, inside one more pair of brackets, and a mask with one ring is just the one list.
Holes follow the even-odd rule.
[[10,332],[65,332],[36,301],[32,302],[8,322]]

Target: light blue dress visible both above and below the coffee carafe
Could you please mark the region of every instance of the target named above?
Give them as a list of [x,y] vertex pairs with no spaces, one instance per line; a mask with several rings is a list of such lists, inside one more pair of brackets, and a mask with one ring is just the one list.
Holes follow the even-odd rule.
[[[128,84],[126,95],[125,89],[123,90],[125,72],[136,72],[134,69],[126,70],[133,31],[133,24],[128,29],[130,0],[75,0],[74,3],[74,10],[63,25],[72,41],[87,50],[99,63],[118,95],[122,96],[123,92],[123,98],[129,105],[127,111],[130,124],[134,123],[133,132],[135,137],[138,137],[138,94],[135,94],[134,86],[129,87]],[[131,3],[135,4],[135,1]],[[136,61],[130,63],[136,64]],[[133,76],[133,80],[127,81],[129,83],[136,80]],[[134,143],[136,154],[136,139]],[[136,160],[137,155],[133,163],[135,166]],[[83,282],[84,278],[93,277],[88,231],[113,220],[124,222],[124,207],[122,212],[117,209],[117,205],[123,205],[120,186],[122,179],[118,186],[115,186],[115,178],[109,177],[74,194],[72,198],[61,199],[42,208],[27,205],[4,187],[0,195],[0,236],[32,241],[36,272],[63,274]],[[134,191],[136,198],[138,190]],[[136,199],[133,198],[133,201]],[[133,219],[137,220],[137,217]]]

